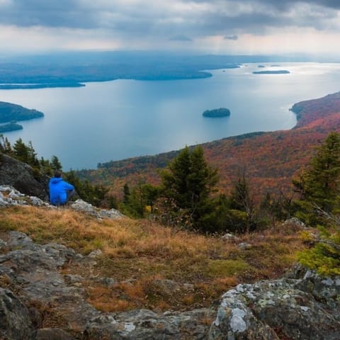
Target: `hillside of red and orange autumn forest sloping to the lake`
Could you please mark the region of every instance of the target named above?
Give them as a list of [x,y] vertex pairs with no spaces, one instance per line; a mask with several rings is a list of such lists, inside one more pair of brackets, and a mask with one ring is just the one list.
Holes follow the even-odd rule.
[[[305,166],[330,131],[340,130],[340,93],[302,101],[293,106],[297,125],[292,130],[254,132],[228,137],[203,145],[205,157],[220,173],[220,191],[229,192],[239,169],[246,169],[254,193],[288,192],[291,179]],[[157,169],[178,152],[135,157],[119,162],[100,164],[98,169],[79,171],[79,175],[111,186],[120,195],[124,183],[146,180],[158,183]]]

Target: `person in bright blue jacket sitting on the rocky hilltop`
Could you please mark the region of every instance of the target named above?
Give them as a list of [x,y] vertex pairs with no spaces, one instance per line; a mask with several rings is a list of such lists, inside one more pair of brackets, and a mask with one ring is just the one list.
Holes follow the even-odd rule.
[[75,191],[74,186],[62,179],[62,173],[55,171],[54,177],[50,179],[50,203],[52,205],[64,205],[71,198]]

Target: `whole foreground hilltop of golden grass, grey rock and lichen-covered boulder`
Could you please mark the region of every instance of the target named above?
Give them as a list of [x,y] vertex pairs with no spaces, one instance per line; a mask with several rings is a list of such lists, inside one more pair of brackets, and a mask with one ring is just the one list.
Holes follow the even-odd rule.
[[203,236],[0,186],[0,339],[339,339],[340,278],[290,271],[309,230]]

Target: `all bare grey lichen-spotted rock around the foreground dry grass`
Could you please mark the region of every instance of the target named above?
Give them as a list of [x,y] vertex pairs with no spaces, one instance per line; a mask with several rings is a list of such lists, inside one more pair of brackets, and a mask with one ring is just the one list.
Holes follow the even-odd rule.
[[[28,204],[55,209],[0,186],[0,209]],[[83,201],[72,205],[97,218],[121,217]],[[218,310],[105,313],[87,302],[83,277],[62,274],[70,263],[93,268],[100,251],[82,256],[60,244],[37,244],[21,232],[0,236],[0,339],[340,339],[340,277],[298,269],[280,280],[237,285],[222,296]],[[115,278],[93,280],[108,287],[116,283]],[[165,281],[157,284],[176,285]],[[171,292],[179,289],[187,288],[178,284]]]

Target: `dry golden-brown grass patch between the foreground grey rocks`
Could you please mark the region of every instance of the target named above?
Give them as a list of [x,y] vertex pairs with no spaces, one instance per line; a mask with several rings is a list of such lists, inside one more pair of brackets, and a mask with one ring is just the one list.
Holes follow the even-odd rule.
[[[149,220],[96,220],[67,208],[31,206],[1,209],[0,232],[7,230],[25,232],[35,242],[58,242],[81,254],[101,249],[94,267],[69,263],[62,272],[84,276],[89,302],[110,312],[211,305],[237,283],[281,276],[305,246],[294,229],[273,228],[226,242]],[[239,242],[252,247],[241,251]],[[111,277],[118,283],[108,288],[93,277]],[[190,283],[192,288],[169,293],[154,284],[157,279]]]

